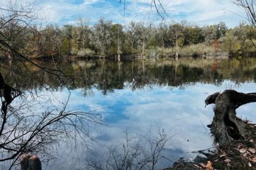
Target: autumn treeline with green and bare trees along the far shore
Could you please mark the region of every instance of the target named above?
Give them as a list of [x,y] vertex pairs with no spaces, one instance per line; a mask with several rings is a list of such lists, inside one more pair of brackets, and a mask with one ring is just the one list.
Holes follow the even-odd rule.
[[[105,57],[131,54],[172,56],[176,52],[197,56],[220,52],[248,54],[256,51],[256,32],[245,23],[228,29],[224,22],[204,27],[185,21],[154,26],[139,22],[121,25],[100,19],[90,26],[87,20],[79,18],[76,25],[48,25],[44,29],[34,27],[26,28],[27,30],[17,30],[18,28],[6,27],[1,38],[7,42],[15,39],[16,42],[9,44],[30,57]],[[28,30],[30,33],[27,33]],[[5,50],[8,52],[8,49]]]

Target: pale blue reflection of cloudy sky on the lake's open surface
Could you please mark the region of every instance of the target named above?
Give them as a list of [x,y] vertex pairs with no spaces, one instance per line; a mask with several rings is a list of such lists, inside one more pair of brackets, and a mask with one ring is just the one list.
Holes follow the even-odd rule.
[[[133,134],[143,134],[150,124],[157,125],[176,134],[169,149],[186,153],[212,147],[212,139],[207,124],[213,117],[213,105],[206,106],[205,98],[217,91],[231,89],[241,92],[255,92],[255,83],[243,83],[237,86],[234,82],[225,81],[221,86],[196,83],[185,89],[153,86],[149,90],[122,89],[115,90],[107,96],[93,90],[94,96],[83,97],[82,90],[71,91],[69,109],[102,114],[110,127],[101,128],[95,133],[95,138],[102,145],[113,145],[122,142],[124,131]],[[66,91],[59,92],[59,98]],[[64,95],[66,96],[66,95]],[[237,109],[239,117],[255,120],[253,108],[255,103],[247,104]],[[104,109],[99,109],[104,108]],[[75,161],[75,160],[74,160]]]

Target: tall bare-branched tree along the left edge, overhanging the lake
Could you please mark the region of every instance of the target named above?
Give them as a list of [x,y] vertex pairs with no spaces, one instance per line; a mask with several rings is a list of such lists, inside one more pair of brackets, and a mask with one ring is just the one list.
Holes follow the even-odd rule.
[[[0,7],[0,167],[11,169],[18,166],[18,159],[27,152],[42,157],[51,157],[52,148],[60,141],[82,142],[88,145],[90,128],[103,124],[101,116],[81,111],[68,111],[66,101],[56,100],[47,87],[42,74],[58,79],[64,88],[66,75],[63,71],[44,67],[30,60],[25,54],[31,47],[22,46],[36,31],[34,3],[22,5],[19,1],[6,1]],[[31,87],[22,79],[30,77],[36,87],[44,87],[44,99],[38,88]],[[27,84],[27,85],[26,85]],[[24,86],[26,86],[24,88]],[[70,141],[71,140],[71,141]]]

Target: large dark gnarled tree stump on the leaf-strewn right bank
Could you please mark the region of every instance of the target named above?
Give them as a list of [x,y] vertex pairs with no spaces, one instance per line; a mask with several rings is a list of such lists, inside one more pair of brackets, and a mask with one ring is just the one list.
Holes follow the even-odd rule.
[[244,94],[235,90],[217,92],[206,98],[205,104],[215,104],[211,133],[219,146],[228,145],[233,140],[250,140],[255,137],[255,127],[236,116],[236,109],[256,101],[256,93]]

